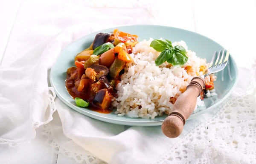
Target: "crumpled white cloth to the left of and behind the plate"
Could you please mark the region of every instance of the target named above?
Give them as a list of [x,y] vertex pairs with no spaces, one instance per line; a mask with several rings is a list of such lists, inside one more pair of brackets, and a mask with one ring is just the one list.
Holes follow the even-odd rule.
[[61,49],[103,28],[155,24],[152,4],[145,0],[24,0],[15,22],[19,26],[12,29],[16,39],[11,36],[9,42],[16,47],[7,47],[8,55],[0,66],[0,144],[27,143],[35,138],[35,128],[52,120],[56,109],[52,108],[54,95],[48,91],[52,89],[47,84],[47,68]]

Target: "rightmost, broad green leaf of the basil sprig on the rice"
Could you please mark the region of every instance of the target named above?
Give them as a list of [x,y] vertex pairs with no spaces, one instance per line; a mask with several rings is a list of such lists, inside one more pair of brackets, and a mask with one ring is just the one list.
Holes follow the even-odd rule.
[[173,48],[173,55],[167,62],[171,63],[173,66],[180,67],[188,61],[188,57],[186,56],[186,49],[180,45],[175,45]]

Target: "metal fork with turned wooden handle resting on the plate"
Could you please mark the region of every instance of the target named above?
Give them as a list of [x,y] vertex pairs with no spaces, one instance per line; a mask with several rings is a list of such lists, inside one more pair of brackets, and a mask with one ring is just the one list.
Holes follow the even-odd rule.
[[173,111],[166,117],[166,119],[164,119],[162,131],[167,137],[176,138],[182,132],[186,119],[189,118],[195,109],[197,97],[200,96],[200,93],[205,86],[204,78],[207,75],[219,72],[226,67],[229,58],[229,50],[227,50],[226,55],[225,49],[222,54],[220,50],[217,58],[216,54],[215,51],[207,72],[205,72],[204,75],[196,76],[191,80],[186,87],[186,91],[177,98]]

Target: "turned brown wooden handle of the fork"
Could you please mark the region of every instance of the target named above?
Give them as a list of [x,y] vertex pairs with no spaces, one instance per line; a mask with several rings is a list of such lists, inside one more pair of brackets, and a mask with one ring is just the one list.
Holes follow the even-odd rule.
[[205,86],[204,79],[194,77],[187,86],[186,91],[176,100],[173,111],[163,121],[162,131],[169,138],[176,138],[180,135],[185,125],[186,119],[195,109],[197,97]]

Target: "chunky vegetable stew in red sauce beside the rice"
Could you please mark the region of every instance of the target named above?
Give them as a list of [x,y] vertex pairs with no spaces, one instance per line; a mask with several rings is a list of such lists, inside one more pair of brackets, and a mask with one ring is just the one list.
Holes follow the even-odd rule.
[[129,54],[137,38],[118,29],[113,34],[99,33],[89,48],[76,55],[76,67],[67,69],[65,85],[77,106],[111,112],[116,84],[125,64],[133,61]]

